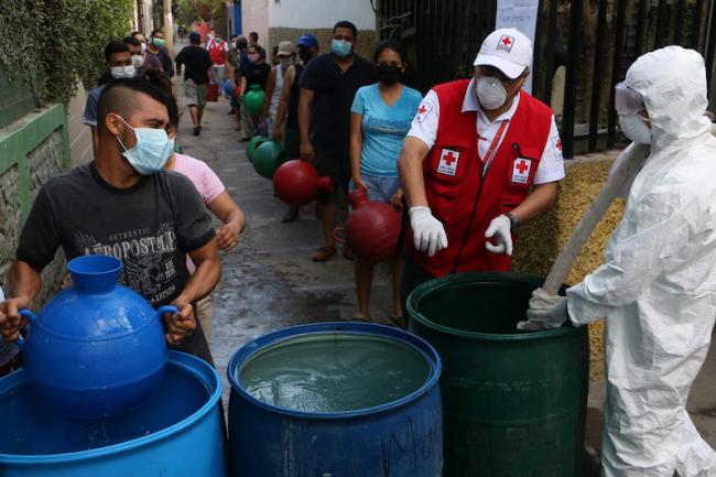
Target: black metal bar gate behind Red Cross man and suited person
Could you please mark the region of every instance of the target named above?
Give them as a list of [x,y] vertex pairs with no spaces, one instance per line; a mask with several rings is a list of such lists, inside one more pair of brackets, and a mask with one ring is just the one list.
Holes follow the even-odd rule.
[[[495,28],[496,10],[496,0],[381,0],[378,13],[381,35],[405,42],[406,83],[426,91],[471,75],[479,45]],[[716,0],[541,0],[536,31],[533,95],[551,105],[556,91],[563,100],[557,122],[565,158],[622,140],[614,86],[648,51],[669,44],[697,50],[712,90]],[[555,82],[561,66],[563,87]]]

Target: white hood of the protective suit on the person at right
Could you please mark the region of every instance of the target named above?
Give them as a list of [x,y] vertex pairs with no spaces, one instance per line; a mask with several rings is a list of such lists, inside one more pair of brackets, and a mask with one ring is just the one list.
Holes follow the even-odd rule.
[[666,46],[640,56],[625,83],[639,93],[649,112],[652,152],[674,141],[710,132],[704,58],[693,50]]

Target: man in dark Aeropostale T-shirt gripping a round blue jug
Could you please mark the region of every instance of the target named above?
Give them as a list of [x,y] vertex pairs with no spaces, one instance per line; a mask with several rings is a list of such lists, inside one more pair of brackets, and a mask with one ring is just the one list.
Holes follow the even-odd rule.
[[[62,247],[67,260],[109,254],[123,263],[120,281],[164,315],[166,339],[211,362],[193,303],[216,285],[220,264],[214,228],[185,176],[164,171],[171,148],[164,94],[143,79],[119,79],[98,106],[95,160],[47,181],[22,229],[10,270],[11,297],[0,303],[0,332],[15,339],[19,308],[32,305],[41,271]],[[196,264],[189,275],[186,256]]]

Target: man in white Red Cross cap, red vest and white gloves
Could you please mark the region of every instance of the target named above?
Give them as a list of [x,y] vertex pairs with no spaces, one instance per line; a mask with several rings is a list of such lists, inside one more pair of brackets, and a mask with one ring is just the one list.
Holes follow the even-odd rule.
[[554,115],[522,86],[532,42],[500,29],[473,79],[431,89],[399,158],[410,207],[403,297],[433,277],[510,270],[516,228],[554,202],[564,177]]

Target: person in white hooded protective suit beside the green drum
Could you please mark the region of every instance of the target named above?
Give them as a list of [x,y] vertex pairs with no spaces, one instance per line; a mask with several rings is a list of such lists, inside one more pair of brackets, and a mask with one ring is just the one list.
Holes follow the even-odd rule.
[[520,329],[606,317],[606,477],[716,476],[686,398],[716,316],[716,139],[692,50],[639,57],[616,87],[622,132],[651,144],[605,263],[566,297],[533,293]]

